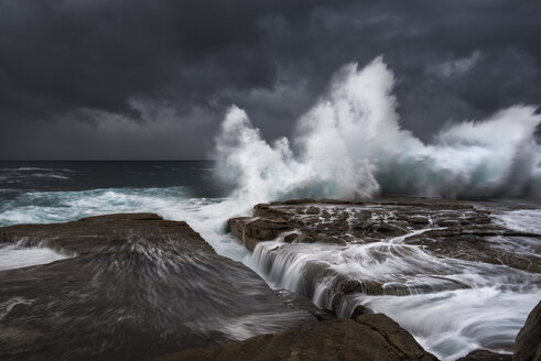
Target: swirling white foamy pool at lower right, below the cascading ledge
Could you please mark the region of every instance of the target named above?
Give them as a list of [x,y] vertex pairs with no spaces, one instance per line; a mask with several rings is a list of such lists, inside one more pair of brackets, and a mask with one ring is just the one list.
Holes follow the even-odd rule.
[[364,296],[358,300],[398,321],[442,360],[456,360],[475,349],[512,346],[540,298],[539,288],[513,293],[483,287],[401,297]]

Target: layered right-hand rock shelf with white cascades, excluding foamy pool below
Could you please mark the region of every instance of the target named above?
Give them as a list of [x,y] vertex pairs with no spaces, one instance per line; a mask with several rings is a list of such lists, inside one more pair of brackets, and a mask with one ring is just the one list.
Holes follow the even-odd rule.
[[[497,217],[523,208],[425,198],[300,199],[256,205],[250,217],[232,218],[228,227],[253,252],[252,262],[268,281],[339,317],[356,318],[371,311],[364,299],[398,296],[398,302],[408,295],[495,287],[498,280],[498,292],[535,289],[541,234],[509,228]],[[473,322],[465,332],[483,329],[483,320]],[[508,353],[478,350],[463,360],[510,360],[513,347],[518,359],[533,360],[521,357],[522,343],[501,335],[482,336],[483,347]]]

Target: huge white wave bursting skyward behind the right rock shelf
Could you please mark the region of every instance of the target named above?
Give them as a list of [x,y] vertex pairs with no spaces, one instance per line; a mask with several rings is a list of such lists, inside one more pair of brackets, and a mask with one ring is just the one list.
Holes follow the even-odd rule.
[[382,57],[344,66],[297,121],[292,144],[269,144],[232,106],[216,139],[218,172],[249,203],[293,197],[541,196],[534,107],[445,127],[431,144],[401,129],[393,74]]

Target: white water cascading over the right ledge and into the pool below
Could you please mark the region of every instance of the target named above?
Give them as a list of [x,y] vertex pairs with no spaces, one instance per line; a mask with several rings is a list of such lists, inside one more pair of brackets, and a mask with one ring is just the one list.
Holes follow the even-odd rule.
[[[357,206],[335,214],[359,208],[385,215],[391,226],[402,225],[400,215],[387,214],[393,206]],[[451,215],[440,212],[426,210],[436,222],[452,220]],[[468,212],[459,217],[473,218]],[[496,221],[512,218],[515,212],[499,214]],[[318,225],[325,229],[324,223]],[[483,225],[479,229],[487,230]],[[541,275],[530,265],[541,264],[540,237],[493,237],[489,247],[495,261],[488,254],[477,258],[473,251],[484,248],[470,247],[467,240],[466,244],[450,244],[445,255],[433,245],[439,231],[448,229],[426,223],[402,236],[369,242],[348,237],[346,231],[338,237],[347,240],[342,244],[284,241],[299,232],[295,230],[258,243],[246,263],[271,286],[305,295],[338,317],[349,317],[359,305],[385,313],[444,360],[478,348],[509,352],[529,310],[541,298]],[[444,242],[458,240],[445,238]],[[463,255],[468,252],[470,259]],[[498,264],[498,254],[512,261]],[[522,261],[528,265],[520,269]]]

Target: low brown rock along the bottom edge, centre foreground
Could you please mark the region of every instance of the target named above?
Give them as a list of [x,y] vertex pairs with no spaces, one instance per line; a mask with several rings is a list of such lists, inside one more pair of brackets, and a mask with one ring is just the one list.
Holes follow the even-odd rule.
[[190,349],[156,361],[371,360],[433,361],[413,337],[382,314],[294,327],[241,342]]

